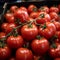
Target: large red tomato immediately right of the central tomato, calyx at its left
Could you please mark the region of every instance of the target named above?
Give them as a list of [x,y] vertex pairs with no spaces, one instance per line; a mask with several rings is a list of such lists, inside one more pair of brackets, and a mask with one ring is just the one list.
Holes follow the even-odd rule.
[[51,22],[46,22],[46,27],[45,28],[39,28],[39,34],[41,36],[44,36],[45,38],[49,39],[52,36],[54,36],[56,33],[56,27],[53,23]]

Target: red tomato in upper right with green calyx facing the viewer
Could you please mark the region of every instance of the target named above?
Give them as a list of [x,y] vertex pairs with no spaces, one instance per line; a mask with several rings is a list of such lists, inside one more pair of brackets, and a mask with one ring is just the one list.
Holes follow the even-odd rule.
[[38,24],[43,24],[46,22],[49,22],[51,20],[49,14],[45,13],[45,12],[40,12],[39,13],[39,18],[36,19],[36,23]]

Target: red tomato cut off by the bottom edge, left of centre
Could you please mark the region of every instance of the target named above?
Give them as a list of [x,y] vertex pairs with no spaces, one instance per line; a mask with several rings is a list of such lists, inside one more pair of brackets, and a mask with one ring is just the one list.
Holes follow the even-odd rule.
[[19,48],[16,51],[16,60],[33,60],[32,51],[27,48]]

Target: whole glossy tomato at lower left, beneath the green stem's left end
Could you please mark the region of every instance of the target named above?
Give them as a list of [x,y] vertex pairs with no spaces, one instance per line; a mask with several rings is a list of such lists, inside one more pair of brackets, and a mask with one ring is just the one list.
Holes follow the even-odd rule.
[[21,36],[10,36],[7,38],[7,44],[10,48],[22,47],[24,41]]

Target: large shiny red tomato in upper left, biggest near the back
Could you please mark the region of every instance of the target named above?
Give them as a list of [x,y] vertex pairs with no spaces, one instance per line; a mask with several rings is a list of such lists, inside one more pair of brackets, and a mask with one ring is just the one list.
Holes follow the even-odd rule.
[[17,9],[14,13],[14,16],[17,19],[20,19],[20,22],[22,22],[22,23],[26,22],[29,18],[27,11],[21,10],[21,9]]

